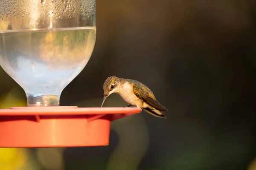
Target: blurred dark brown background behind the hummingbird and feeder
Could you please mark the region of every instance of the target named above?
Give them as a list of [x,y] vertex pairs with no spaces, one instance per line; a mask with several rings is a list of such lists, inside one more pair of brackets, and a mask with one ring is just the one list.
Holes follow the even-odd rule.
[[[33,170],[256,170],[256,1],[96,4],[92,57],[64,89],[61,105],[99,107],[103,82],[117,76],[151,88],[169,109],[167,119],[143,111],[116,120],[106,147],[1,148],[0,165],[23,162],[24,170],[32,164]],[[2,69],[0,81],[1,108],[26,105],[23,89]],[[105,102],[105,107],[125,105],[116,94]]]

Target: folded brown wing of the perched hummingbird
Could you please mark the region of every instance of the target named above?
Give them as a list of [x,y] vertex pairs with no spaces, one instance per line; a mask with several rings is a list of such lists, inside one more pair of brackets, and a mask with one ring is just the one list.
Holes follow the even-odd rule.
[[143,91],[139,88],[137,88],[135,85],[133,86],[134,94],[143,100],[143,102],[146,102],[148,105],[150,105],[153,108],[156,108],[159,111],[167,111],[166,107],[161,105],[157,100],[152,99],[148,92]]

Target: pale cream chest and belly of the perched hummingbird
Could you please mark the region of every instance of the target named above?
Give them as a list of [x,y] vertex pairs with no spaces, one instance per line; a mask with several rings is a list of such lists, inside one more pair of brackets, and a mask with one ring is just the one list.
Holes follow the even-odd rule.
[[123,84],[122,90],[119,91],[122,99],[130,105],[142,107],[142,100],[140,100],[133,92],[133,86],[129,83]]

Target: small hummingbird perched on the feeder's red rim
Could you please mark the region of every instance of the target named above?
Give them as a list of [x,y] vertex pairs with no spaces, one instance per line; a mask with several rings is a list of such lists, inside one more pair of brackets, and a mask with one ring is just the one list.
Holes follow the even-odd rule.
[[108,77],[103,84],[103,90],[104,98],[101,108],[109,95],[117,93],[128,103],[126,107],[142,108],[153,116],[166,118],[163,111],[168,109],[157,101],[147,86],[137,80]]

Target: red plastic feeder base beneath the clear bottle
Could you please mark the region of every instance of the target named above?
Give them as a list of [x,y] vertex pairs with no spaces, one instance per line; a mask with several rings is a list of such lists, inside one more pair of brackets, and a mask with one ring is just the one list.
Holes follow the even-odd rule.
[[77,106],[0,109],[0,147],[106,146],[111,121],[140,112]]

